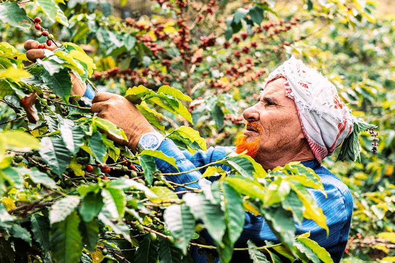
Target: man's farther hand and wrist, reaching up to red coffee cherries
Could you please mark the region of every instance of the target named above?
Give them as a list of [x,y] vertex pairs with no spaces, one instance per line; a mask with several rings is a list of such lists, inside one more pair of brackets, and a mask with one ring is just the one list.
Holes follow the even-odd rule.
[[[30,61],[36,62],[37,59],[45,58],[44,50],[39,48],[39,44],[40,43],[38,41],[33,40],[33,39],[29,39],[25,42],[25,49],[27,50],[26,57]],[[45,47],[45,49],[48,49],[48,50],[55,50],[57,48],[56,45],[48,46],[46,43],[44,43],[44,47]],[[85,94],[86,84],[83,83],[73,73],[70,73],[70,76],[71,76],[71,81],[73,83],[73,87],[71,89],[71,94],[83,96],[83,94]],[[79,101],[79,98],[75,98],[75,99],[77,101]]]

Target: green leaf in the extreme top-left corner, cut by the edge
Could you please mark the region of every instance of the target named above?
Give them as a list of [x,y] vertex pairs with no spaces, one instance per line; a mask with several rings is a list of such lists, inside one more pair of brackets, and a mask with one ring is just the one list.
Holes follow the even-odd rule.
[[11,27],[28,29],[31,22],[27,20],[26,12],[16,2],[6,1],[0,4],[0,21]]

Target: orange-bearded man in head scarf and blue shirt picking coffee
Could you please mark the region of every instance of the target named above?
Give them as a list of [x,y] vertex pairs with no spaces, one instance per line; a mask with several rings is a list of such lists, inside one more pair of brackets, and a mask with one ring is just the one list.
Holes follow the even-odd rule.
[[[30,60],[43,57],[42,50],[36,49],[36,42],[29,40],[25,44]],[[72,92],[93,98],[92,112],[117,124],[129,140],[115,141],[126,144],[133,152],[161,150],[175,158],[180,171],[189,171],[223,158],[229,150],[238,153],[247,150],[247,154],[264,169],[273,169],[291,161],[301,161],[312,168],[320,176],[327,198],[318,190],[308,190],[327,218],[329,236],[312,220],[304,220],[301,226],[296,225],[297,234],[310,231],[310,237],[330,253],[334,262],[340,261],[348,241],[353,198],[347,186],[321,166],[321,161],[353,133],[358,121],[339,98],[333,84],[316,70],[291,57],[269,75],[257,103],[243,112],[247,121],[246,130],[237,138],[236,149],[215,147],[207,153],[197,152],[194,156],[180,151],[171,140],[163,140],[136,107],[122,96],[101,92],[93,97],[90,86],[85,87],[75,78]],[[145,139],[149,137],[156,143],[145,144]],[[157,160],[157,166],[163,173],[176,172],[164,161]],[[230,170],[226,166],[223,169]],[[200,179],[202,172],[204,170],[169,176],[166,180],[185,184]],[[196,183],[190,186],[199,188]],[[246,213],[245,226],[236,247],[245,247],[249,239],[256,244],[263,244],[265,240],[278,242],[262,217]],[[192,256],[195,262],[206,260],[197,254],[195,248],[192,248]]]

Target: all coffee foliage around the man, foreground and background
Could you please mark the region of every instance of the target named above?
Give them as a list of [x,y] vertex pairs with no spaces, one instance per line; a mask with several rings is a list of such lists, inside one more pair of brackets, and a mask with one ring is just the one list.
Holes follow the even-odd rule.
[[[189,262],[196,247],[228,262],[244,210],[262,214],[282,241],[248,243],[241,250],[254,262],[330,262],[308,234],[293,234],[303,217],[326,227],[305,189],[322,188],[311,171],[292,164],[267,174],[247,156],[229,156],[216,164],[233,167],[232,175],[201,167],[205,177],[221,177],[210,188],[175,185],[166,179],[178,175],[161,174],[153,158],[174,159],[134,156],[99,132],[122,138],[121,130],[70,98],[73,71],[138,104],[181,149],[229,146],[242,109],[290,54],[321,69],[355,115],[379,126],[377,155],[364,134],[361,164],[334,164],[334,156],[325,165],[355,201],[343,261],[394,261],[395,25],[382,11],[391,3],[383,4],[158,0],[139,10],[124,0],[1,1],[2,262]],[[23,54],[23,42],[36,38],[26,15],[63,43],[35,64]],[[214,244],[201,239],[203,227]]]

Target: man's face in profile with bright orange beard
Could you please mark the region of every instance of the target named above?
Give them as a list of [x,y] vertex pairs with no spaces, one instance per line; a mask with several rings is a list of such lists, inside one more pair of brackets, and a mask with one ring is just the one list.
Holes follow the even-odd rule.
[[299,116],[293,100],[285,96],[284,79],[269,82],[257,103],[243,112],[247,120],[244,134],[236,141],[236,151],[260,162],[267,154],[293,151],[304,140]]

